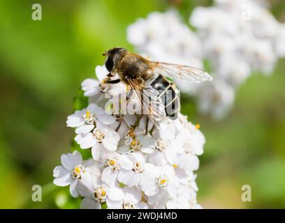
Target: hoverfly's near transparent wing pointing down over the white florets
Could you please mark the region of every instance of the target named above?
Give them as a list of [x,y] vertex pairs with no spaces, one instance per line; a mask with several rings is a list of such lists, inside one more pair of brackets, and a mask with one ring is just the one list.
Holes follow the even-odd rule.
[[159,97],[159,92],[152,88],[152,86],[145,86],[143,91],[136,90],[135,84],[131,79],[126,79],[133,94],[142,108],[143,114],[146,114],[156,128],[160,128],[159,125],[163,118],[166,118],[166,112],[163,102]]

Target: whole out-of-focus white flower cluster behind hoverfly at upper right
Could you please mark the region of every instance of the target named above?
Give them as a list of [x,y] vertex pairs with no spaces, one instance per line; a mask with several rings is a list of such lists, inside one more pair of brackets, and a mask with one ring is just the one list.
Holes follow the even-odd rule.
[[257,1],[216,0],[194,8],[189,22],[195,33],[174,10],[154,12],[128,27],[128,40],[153,60],[196,68],[207,62],[213,82],[178,84],[198,100],[200,112],[214,118],[228,112],[245,79],[254,72],[270,75],[285,56],[285,25]]

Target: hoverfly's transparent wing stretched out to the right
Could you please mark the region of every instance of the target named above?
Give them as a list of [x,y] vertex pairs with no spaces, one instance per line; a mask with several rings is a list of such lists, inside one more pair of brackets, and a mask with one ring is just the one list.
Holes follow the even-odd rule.
[[190,83],[212,81],[212,77],[198,68],[183,66],[175,63],[151,61],[154,72],[173,79],[179,79]]

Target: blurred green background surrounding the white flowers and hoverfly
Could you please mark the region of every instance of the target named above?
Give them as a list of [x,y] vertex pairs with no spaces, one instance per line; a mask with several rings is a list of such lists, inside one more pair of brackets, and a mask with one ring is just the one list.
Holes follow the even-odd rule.
[[[41,3],[43,20],[31,20]],[[52,169],[71,151],[66,116],[80,83],[94,77],[102,52],[128,47],[126,26],[176,5],[185,18],[211,1],[0,0],[0,208],[78,208],[68,188],[52,185]],[[270,1],[285,22],[285,1]],[[284,40],[285,41],[285,40]],[[285,60],[271,77],[253,75],[223,121],[200,116],[184,98],[182,113],[200,123],[207,143],[200,157],[198,202],[204,208],[285,208]],[[32,185],[43,201],[32,202]],[[241,201],[251,185],[252,201]]]

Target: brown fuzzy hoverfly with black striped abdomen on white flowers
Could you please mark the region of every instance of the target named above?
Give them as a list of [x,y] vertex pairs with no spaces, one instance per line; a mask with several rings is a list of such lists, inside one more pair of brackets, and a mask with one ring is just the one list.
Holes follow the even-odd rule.
[[[104,82],[124,82],[130,86],[140,106],[146,109],[147,117],[154,124],[165,117],[176,119],[180,109],[175,84],[170,82],[168,77],[190,83],[212,80],[203,70],[174,63],[149,61],[122,47],[112,48],[103,56],[106,56],[105,67],[110,72]],[[112,80],[111,77],[115,75],[119,75],[119,79]]]

